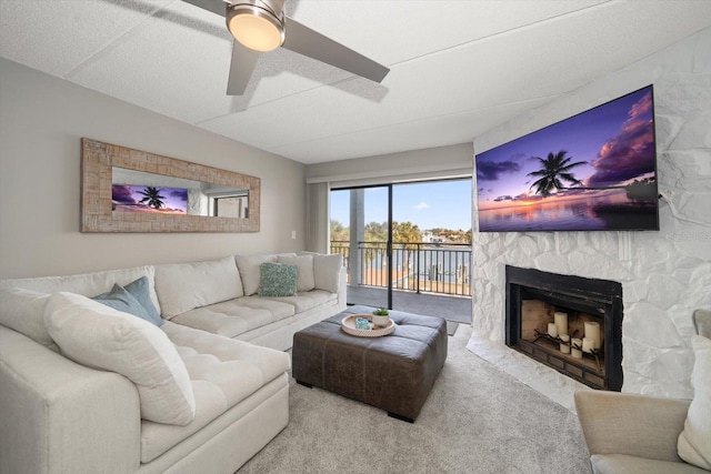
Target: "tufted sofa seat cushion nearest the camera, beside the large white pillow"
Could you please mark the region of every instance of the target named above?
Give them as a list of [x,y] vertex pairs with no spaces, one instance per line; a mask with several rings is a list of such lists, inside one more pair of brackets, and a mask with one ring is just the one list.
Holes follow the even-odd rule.
[[284,352],[166,322],[192,381],[196,417],[187,426],[142,422],[141,462],[148,463],[197,433],[290,369]]

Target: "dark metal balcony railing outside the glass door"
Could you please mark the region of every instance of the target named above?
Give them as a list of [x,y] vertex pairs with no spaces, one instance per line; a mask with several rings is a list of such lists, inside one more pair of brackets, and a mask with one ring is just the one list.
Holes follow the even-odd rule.
[[[387,288],[385,242],[358,242],[357,251],[358,259],[350,259],[350,242],[331,241],[331,253],[343,255],[349,284]],[[351,269],[352,262],[360,262],[360,272]],[[471,296],[470,264],[471,245],[467,243],[393,242],[392,288]]]

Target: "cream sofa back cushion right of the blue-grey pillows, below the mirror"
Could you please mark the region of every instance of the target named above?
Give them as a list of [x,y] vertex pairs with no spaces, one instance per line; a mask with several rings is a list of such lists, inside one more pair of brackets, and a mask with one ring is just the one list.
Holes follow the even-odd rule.
[[234,259],[156,266],[156,292],[163,317],[244,295]]

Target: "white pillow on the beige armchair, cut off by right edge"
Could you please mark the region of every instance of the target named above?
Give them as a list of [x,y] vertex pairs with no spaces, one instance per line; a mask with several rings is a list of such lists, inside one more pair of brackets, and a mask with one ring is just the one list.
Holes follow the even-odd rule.
[[697,357],[691,374],[694,394],[679,435],[679,457],[711,471],[711,340],[694,335],[691,340]]

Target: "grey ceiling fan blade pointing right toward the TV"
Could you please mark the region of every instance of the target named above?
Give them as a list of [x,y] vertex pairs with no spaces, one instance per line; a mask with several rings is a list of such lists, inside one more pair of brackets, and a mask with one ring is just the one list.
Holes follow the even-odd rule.
[[374,82],[380,82],[390,69],[370,58],[340,44],[323,34],[304,27],[291,18],[286,18],[286,41],[288,50],[298,52],[344,71],[352,72]]

